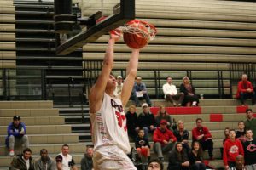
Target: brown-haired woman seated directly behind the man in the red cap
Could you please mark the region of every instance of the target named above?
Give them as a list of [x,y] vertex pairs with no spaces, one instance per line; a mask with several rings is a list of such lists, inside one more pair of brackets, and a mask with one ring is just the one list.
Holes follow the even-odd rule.
[[166,112],[164,105],[160,105],[159,111],[155,116],[155,123],[157,127],[160,127],[161,120],[166,120],[167,128],[172,130],[172,117]]

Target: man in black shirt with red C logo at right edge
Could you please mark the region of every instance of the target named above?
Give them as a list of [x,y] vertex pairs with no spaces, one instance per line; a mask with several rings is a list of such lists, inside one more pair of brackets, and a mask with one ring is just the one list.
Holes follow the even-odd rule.
[[242,144],[244,150],[244,160],[247,169],[256,169],[256,140],[253,139],[253,131],[246,130],[247,140]]

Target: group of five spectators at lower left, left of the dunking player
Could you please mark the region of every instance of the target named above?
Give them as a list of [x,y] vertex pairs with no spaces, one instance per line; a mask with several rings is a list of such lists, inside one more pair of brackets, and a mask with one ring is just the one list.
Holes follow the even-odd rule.
[[[10,170],[77,170],[73,156],[69,155],[69,146],[63,144],[61,153],[51,158],[48,150],[40,150],[40,157],[32,159],[32,150],[29,148],[26,135],[26,125],[21,122],[20,116],[14,116],[13,122],[9,123],[6,146],[9,149],[9,156],[13,157],[9,165]],[[15,148],[24,148],[22,154],[15,156]],[[87,145],[84,157],[80,161],[82,170],[93,169],[93,146]]]

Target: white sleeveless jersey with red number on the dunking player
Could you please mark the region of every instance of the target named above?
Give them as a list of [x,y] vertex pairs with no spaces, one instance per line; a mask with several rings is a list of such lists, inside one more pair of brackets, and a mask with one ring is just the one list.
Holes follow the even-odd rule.
[[117,145],[125,154],[131,151],[125,111],[119,98],[104,93],[101,109],[91,113],[90,120],[95,150],[104,145]]

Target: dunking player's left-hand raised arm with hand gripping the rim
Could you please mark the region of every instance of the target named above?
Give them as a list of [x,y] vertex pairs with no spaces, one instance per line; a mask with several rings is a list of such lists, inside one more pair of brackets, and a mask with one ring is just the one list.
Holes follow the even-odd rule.
[[98,76],[96,83],[90,89],[90,113],[95,113],[101,108],[104,91],[107,86],[110,72],[113,68],[113,46],[118,40],[119,37],[115,35],[111,35],[110,39],[108,40],[108,48],[106,49],[106,54],[103,60],[102,72]]

